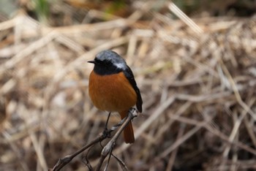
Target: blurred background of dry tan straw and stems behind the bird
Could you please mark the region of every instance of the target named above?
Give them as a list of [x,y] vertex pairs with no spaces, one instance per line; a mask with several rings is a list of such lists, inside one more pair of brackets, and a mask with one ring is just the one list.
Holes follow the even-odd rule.
[[113,150],[129,170],[256,170],[255,14],[255,0],[1,0],[0,170],[48,170],[103,131],[86,61],[106,49],[143,97],[135,143]]

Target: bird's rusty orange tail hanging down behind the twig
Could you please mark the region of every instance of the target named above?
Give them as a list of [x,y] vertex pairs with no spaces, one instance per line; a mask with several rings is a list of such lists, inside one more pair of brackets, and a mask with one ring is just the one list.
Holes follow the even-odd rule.
[[[127,116],[127,111],[120,112],[121,119]],[[133,143],[135,142],[135,135],[133,134],[132,122],[129,122],[127,126],[124,128],[124,142]]]

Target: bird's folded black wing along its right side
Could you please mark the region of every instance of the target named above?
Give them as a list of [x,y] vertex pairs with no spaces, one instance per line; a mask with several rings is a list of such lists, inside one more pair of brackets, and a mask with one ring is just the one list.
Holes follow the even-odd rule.
[[129,68],[129,66],[127,66],[127,69],[124,70],[124,75],[127,77],[127,79],[129,80],[129,83],[131,83],[132,88],[135,89],[135,92],[137,94],[137,102],[136,102],[136,107],[138,109],[138,111],[140,113],[142,113],[142,99],[141,99],[141,95],[140,95],[140,89],[137,86],[137,83],[135,81],[135,77],[132,73],[132,69]]

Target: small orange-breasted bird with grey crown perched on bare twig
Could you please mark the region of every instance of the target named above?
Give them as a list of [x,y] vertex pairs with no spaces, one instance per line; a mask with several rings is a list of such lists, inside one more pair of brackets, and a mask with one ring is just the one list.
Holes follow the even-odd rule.
[[[89,96],[99,110],[117,112],[121,119],[136,105],[142,113],[143,100],[132,69],[124,58],[113,50],[103,50],[95,56],[94,69],[89,75]],[[132,122],[124,128],[124,142],[135,142]]]

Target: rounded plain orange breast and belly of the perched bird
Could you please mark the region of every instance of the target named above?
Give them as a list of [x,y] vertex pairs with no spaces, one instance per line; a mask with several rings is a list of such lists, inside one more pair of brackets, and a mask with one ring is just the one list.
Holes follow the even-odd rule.
[[89,77],[89,96],[99,110],[110,112],[129,110],[137,102],[137,94],[123,72],[97,75],[92,71]]

